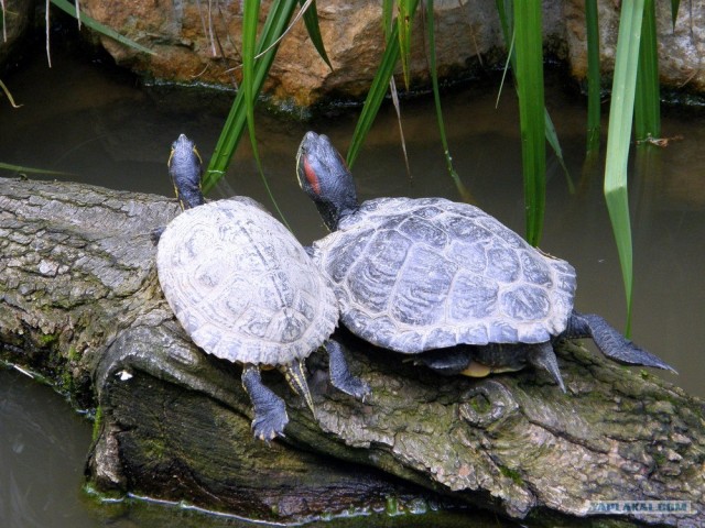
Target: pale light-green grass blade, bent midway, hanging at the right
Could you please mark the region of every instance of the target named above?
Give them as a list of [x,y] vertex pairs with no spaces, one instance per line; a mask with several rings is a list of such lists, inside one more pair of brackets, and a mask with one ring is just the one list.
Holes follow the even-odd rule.
[[625,296],[627,299],[627,329],[631,323],[632,299],[632,245],[627,195],[627,166],[629,142],[634,111],[634,91],[639,65],[639,42],[644,0],[632,0],[621,6],[615,77],[612,80],[609,128],[607,133],[607,160],[605,166],[605,199],[612,223],[612,232],[619,253]]

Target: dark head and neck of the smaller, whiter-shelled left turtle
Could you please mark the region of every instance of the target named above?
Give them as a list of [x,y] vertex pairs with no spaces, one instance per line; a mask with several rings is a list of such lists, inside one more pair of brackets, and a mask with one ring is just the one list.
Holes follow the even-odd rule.
[[203,205],[204,198],[200,190],[203,166],[194,142],[181,134],[172,143],[172,152],[166,165],[182,209]]

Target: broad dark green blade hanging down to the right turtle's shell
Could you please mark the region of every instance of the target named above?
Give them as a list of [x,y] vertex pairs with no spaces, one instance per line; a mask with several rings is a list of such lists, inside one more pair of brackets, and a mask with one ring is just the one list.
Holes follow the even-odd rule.
[[538,245],[543,227],[546,174],[541,1],[520,0],[513,8],[527,240]]

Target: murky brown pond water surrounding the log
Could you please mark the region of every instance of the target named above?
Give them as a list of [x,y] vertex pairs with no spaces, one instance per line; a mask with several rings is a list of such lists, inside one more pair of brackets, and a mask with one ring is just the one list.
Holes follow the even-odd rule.
[[[13,110],[4,102],[0,106],[0,162],[68,173],[51,176],[62,179],[171,195],[165,168],[171,142],[184,132],[197,142],[202,154],[212,152],[227,111],[220,100],[147,95],[124,74],[101,64],[69,59],[57,52],[53,64],[48,69],[39,55],[21,72],[3,78],[23,107]],[[522,232],[517,109],[509,90],[499,109],[495,109],[492,86],[497,85],[444,97],[448,139],[455,168],[477,204]],[[621,327],[622,285],[599,167],[592,177],[589,170],[582,170],[583,101],[558,84],[547,94],[566,163],[579,190],[568,194],[560,165],[550,157],[541,245],[575,265],[577,308],[599,312]],[[411,178],[404,169],[394,114],[384,110],[354,168],[360,198],[408,195],[458,199],[457,189],[445,173],[431,102],[408,101],[403,112]],[[345,152],[354,125],[355,116],[343,111],[308,124],[258,117],[260,154],[273,195],[304,243],[325,234],[325,229],[295,182],[296,146],[304,132],[313,128],[330,135]],[[705,128],[697,117],[666,111],[663,135],[681,135],[683,140],[671,142],[658,153],[651,173],[637,174],[637,168],[632,169],[632,336],[681,372],[680,376],[660,375],[692,394],[705,396],[701,383],[705,374]],[[271,208],[247,144],[238,152],[230,173],[213,197],[237,191]],[[0,370],[3,526],[241,524],[163,505],[95,504],[80,491],[89,443],[90,424],[59,396],[15,371]]]

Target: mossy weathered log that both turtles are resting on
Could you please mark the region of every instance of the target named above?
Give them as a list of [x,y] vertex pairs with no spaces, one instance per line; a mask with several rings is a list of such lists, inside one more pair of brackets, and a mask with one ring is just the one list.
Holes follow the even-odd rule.
[[1,358],[97,409],[100,490],[286,521],[395,497],[601,520],[590,502],[676,501],[695,513],[618,519],[705,522],[703,402],[575,344],[558,351],[563,394],[531,370],[442,377],[339,330],[372,396],[329,389],[315,353],[316,416],[264,373],[291,421],[254,440],[239,366],[195,348],[161,294],[150,233],[176,213],[165,197],[0,178]]

